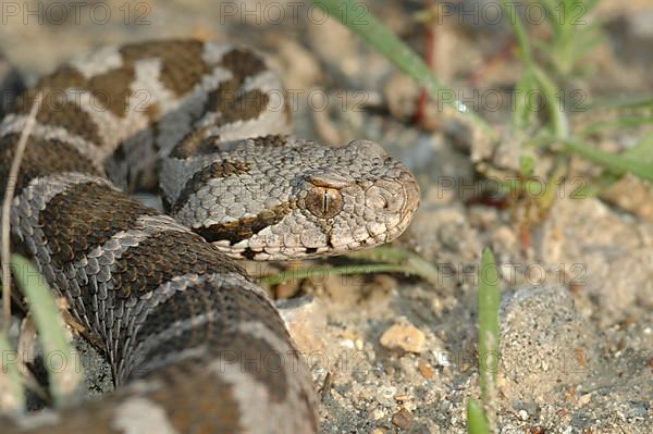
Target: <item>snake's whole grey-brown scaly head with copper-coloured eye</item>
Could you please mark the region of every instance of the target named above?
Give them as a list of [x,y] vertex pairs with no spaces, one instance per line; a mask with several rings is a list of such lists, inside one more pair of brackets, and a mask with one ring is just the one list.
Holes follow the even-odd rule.
[[[370,140],[326,148],[291,136],[230,144],[176,219],[236,258],[342,255],[389,243],[410,223],[419,186]],[[213,168],[209,170],[207,168]],[[184,195],[182,195],[184,196]]]

